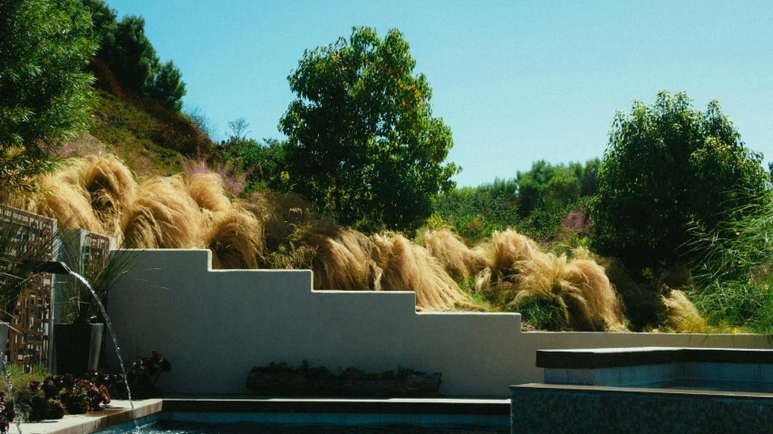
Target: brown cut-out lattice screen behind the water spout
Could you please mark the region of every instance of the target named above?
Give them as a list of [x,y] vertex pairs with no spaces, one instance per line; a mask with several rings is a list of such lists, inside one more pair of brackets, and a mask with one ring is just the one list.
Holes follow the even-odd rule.
[[[39,216],[14,207],[0,206],[3,222],[17,227],[20,243],[41,243],[56,232],[56,220]],[[48,259],[54,255],[53,247]],[[11,330],[8,333],[7,361],[21,365],[29,371],[36,365],[47,365],[51,342],[51,291],[53,275],[35,275],[25,286],[11,314]]]

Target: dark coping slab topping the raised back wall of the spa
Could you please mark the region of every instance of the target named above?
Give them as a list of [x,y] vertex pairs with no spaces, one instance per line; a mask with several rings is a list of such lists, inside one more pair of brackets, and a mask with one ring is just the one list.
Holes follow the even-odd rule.
[[684,362],[773,364],[773,350],[641,347],[536,352],[537,368],[548,369],[600,369]]

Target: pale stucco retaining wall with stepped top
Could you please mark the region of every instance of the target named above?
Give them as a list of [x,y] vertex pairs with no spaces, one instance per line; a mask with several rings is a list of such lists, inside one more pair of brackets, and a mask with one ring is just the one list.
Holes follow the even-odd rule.
[[440,371],[445,395],[505,397],[542,381],[537,349],[773,347],[759,335],[521,333],[517,313],[416,313],[411,292],[313,291],[308,270],[211,270],[208,250],[141,255],[108,312],[127,363],[151,350],[172,362],[159,383],[169,392],[240,393],[253,366],[307,360]]

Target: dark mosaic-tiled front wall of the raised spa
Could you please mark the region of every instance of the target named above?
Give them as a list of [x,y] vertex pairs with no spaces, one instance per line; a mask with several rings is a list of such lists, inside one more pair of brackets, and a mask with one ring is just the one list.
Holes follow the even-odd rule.
[[514,387],[513,433],[773,432],[773,395]]

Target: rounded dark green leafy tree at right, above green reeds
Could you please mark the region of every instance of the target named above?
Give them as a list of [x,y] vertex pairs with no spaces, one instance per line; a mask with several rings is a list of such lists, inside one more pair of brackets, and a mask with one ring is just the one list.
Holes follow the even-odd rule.
[[633,267],[689,258],[685,225],[716,226],[730,209],[763,191],[762,155],[747,149],[738,130],[710,101],[692,108],[684,92],[659,92],[617,112],[599,173],[593,207],[599,253]]

